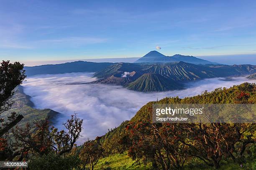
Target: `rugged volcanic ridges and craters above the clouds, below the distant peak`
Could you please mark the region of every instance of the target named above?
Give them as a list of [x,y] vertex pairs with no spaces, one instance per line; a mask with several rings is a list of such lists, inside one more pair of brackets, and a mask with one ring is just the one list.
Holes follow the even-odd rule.
[[[177,90],[183,83],[205,78],[248,75],[256,72],[254,65],[217,65],[206,67],[187,62],[115,63],[94,74],[100,78],[92,83],[123,85],[130,90],[152,92]],[[125,76],[124,76],[125,75]]]

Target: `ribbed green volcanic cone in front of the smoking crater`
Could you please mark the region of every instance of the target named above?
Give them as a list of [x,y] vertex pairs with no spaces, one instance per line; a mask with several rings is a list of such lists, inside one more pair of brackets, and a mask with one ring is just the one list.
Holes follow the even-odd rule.
[[174,80],[156,73],[145,73],[126,87],[140,92],[178,90],[183,88],[182,85]]

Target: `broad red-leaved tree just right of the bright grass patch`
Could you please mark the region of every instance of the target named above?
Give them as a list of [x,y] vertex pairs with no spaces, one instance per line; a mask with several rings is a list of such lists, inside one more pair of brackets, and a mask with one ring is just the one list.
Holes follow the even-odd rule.
[[[177,124],[140,121],[127,126],[131,144],[128,155],[151,161],[163,170],[181,169],[187,158],[187,146],[181,141],[182,129]],[[155,167],[158,169],[157,167]]]

